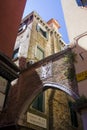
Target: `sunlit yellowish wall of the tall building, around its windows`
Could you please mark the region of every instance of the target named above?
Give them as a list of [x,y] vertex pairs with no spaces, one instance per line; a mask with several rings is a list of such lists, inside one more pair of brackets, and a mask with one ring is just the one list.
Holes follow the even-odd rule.
[[[37,31],[37,25],[40,24],[44,30],[46,30],[48,37],[44,37],[39,31]],[[46,23],[45,23],[46,24]],[[61,44],[59,42],[60,35],[51,29],[47,29],[38,19],[34,18],[31,36],[30,36],[30,46],[28,50],[28,61],[34,60],[38,61],[36,58],[36,48],[39,46],[44,51],[44,57],[50,56],[61,50]]]

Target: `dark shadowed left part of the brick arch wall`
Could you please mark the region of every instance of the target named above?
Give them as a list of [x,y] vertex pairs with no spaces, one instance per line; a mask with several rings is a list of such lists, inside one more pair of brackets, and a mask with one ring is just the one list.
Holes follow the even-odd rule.
[[6,107],[0,114],[0,124],[15,122],[24,102],[28,98],[31,99],[34,91],[41,84],[42,82],[35,70],[31,69],[23,72],[17,84],[11,86]]

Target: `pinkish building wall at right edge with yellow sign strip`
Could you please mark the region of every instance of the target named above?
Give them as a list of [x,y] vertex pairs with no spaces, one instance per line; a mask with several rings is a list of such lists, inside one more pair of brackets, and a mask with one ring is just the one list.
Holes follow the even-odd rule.
[[72,50],[76,54],[76,63],[75,63],[75,70],[77,76],[77,83],[78,83],[78,91],[79,95],[81,96],[80,103],[78,105],[78,109],[80,109],[80,113],[82,114],[82,120],[84,124],[84,130],[87,128],[87,32],[83,33],[82,35],[78,36],[73,44]]

